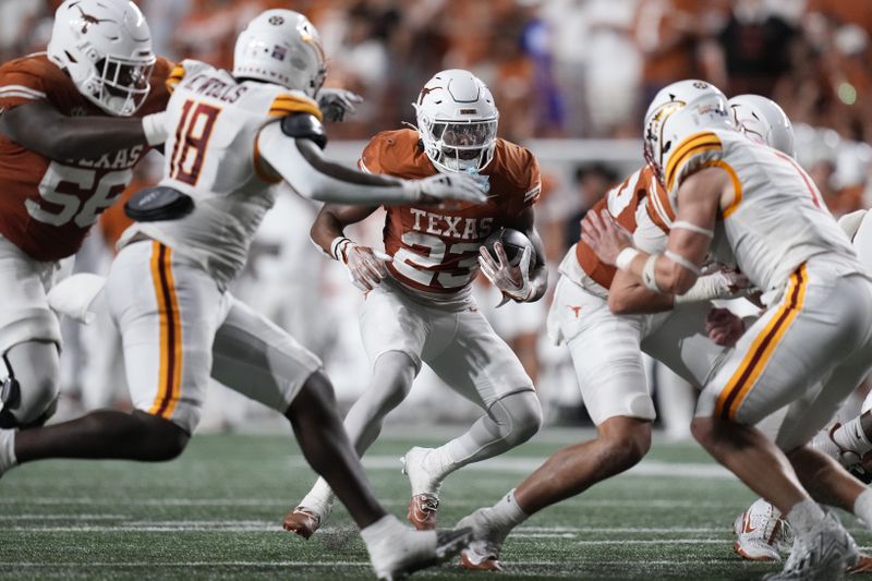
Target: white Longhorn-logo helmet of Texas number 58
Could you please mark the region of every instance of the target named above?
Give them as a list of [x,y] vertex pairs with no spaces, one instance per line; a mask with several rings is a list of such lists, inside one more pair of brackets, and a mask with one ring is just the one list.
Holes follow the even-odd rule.
[[55,13],[47,53],[107,113],[130,117],[148,96],[152,33],[130,0],[66,0]]

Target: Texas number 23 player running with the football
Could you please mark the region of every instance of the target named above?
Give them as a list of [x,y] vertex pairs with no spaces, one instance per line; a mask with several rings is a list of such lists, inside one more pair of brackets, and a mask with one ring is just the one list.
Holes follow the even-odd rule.
[[[358,452],[378,437],[385,415],[409,394],[422,363],[484,411],[463,435],[435,449],[413,447],[402,459],[412,488],[408,519],[432,529],[448,474],[518,446],[542,423],[533,383],[471,298],[473,278],[481,269],[504,300],[530,302],[544,294],[547,271],[533,226],[542,186],[538,162],[524,147],[497,137],[499,113],[491,90],[468,71],[447,70],[424,85],[413,106],[417,131],[377,134],[360,168],[399,178],[472,175],[487,186],[487,202],[387,208],[387,254],[344,235],[346,227],[365,219],[376,205],[325,205],[312,239],[366,292],[361,335],[373,377],[346,417]],[[500,228],[520,230],[532,242],[517,266],[499,242],[496,256],[483,247]],[[332,493],[320,480],[289,512],[284,528],[307,538],[331,506]]]

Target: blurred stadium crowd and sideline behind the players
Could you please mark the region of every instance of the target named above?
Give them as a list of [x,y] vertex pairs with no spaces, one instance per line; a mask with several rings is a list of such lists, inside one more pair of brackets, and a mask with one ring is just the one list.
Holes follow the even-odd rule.
[[[43,50],[59,0],[0,1],[0,58]],[[679,78],[705,78],[728,95],[776,99],[792,119],[801,164],[836,215],[872,204],[872,2],[865,0],[137,0],[157,53],[229,68],[238,32],[257,12],[291,8],[310,16],[330,57],[328,85],[364,96],[356,114],[328,129],[329,154],[353,164],[365,140],[414,120],[411,101],[445,68],[464,68],[493,89],[500,136],[529,146],[544,170],[538,229],[556,267],[579,220],[641,162],[649,99]],[[140,166],[135,187],[155,181],[160,158]],[[308,242],[317,207],[292,194],[263,226],[234,293],[317,352],[340,400],[365,387],[358,291]],[[104,271],[124,228],[120,205],[71,268]],[[354,237],[378,244],[378,218]],[[553,276],[552,283],[556,281]],[[550,423],[584,421],[568,354],[544,334],[546,302],[495,311],[480,302],[536,380]],[[114,330],[105,320],[64,328],[64,413],[124,403]],[[652,366],[659,391],[687,392]],[[203,429],[279,426],[275,414],[216,387]],[[667,433],[687,435],[692,403],[669,397]],[[474,417],[424,374],[393,422]]]

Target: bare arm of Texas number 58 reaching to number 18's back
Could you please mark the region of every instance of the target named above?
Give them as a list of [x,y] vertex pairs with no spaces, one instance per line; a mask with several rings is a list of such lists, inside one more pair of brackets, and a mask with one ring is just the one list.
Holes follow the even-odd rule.
[[167,133],[162,120],[164,112],[142,119],[66,117],[39,100],[3,111],[0,133],[48,159],[93,159],[136,145],[164,143]]

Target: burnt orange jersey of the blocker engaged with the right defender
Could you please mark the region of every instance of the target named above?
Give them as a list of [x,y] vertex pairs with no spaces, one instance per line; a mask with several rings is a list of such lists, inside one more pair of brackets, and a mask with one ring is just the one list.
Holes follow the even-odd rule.
[[[603,196],[600,202],[594,204],[590,211],[602,211],[604,208],[615,218],[619,225],[629,230],[635,231],[637,211],[647,211],[649,216],[654,220],[664,232],[668,233],[668,229],[663,223],[663,220],[654,213],[650,204],[645,204],[645,199],[650,195],[666,195],[665,190],[661,185],[654,171],[645,164],[644,167],[638,169],[632,175],[627,178],[622,183],[616,185],[608,193]],[[581,239],[576,244],[576,256],[579,264],[588,273],[597,285],[608,289],[611,287],[611,280],[615,278],[615,267],[603,264],[591,247]]]

